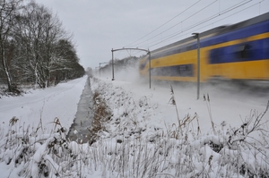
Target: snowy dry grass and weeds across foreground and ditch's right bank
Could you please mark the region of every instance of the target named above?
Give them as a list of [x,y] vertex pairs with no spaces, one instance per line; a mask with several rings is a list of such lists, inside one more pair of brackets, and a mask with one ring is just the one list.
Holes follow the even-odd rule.
[[[37,128],[20,125],[17,117],[7,123],[8,129],[0,127],[0,162],[13,167],[11,177],[269,176],[268,106],[262,113],[251,112],[238,128],[225,122],[216,127],[210,116],[211,129],[204,133],[193,124],[200,123],[199,114],[160,128],[148,123],[159,107],[151,98],[134,99],[125,89],[98,79],[91,79],[91,89],[97,116],[88,143],[68,140],[58,118],[50,123],[55,125],[52,131],[41,118]],[[204,96],[208,112],[210,102]],[[171,87],[170,105],[178,104]]]

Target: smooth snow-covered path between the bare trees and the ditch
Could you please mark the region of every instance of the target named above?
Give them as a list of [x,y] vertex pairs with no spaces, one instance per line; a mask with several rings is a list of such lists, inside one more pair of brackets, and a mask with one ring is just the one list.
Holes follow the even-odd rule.
[[77,104],[84,89],[87,77],[60,83],[48,89],[31,89],[21,97],[2,97],[0,99],[0,122],[9,123],[13,116],[24,125],[36,127],[39,120],[48,130],[57,117],[64,127],[73,123]]

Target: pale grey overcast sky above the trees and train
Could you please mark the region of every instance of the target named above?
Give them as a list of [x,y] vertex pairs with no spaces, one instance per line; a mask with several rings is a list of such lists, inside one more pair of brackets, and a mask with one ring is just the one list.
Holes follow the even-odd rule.
[[[80,64],[95,69],[111,49],[156,49],[193,32],[232,24],[269,12],[269,0],[36,0],[58,15],[74,35]],[[239,6],[239,7],[238,7]],[[216,17],[217,16],[217,17]],[[209,19],[212,19],[208,21]],[[200,24],[201,23],[201,24]],[[200,24],[199,26],[197,26]],[[181,32],[182,31],[182,32]],[[114,58],[144,55],[114,52]]]

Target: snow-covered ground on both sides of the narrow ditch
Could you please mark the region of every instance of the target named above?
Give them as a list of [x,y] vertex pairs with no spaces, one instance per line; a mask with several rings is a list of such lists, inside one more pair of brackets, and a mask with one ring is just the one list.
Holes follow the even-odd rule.
[[[149,89],[148,81],[140,81],[137,71],[126,71],[116,72],[116,81],[111,81],[110,73],[101,73],[101,76],[98,74],[91,79],[93,93],[100,93],[112,116],[100,131],[100,140],[91,146],[69,143],[67,147],[73,153],[77,152],[79,160],[66,157],[65,162],[74,162],[67,166],[64,161],[61,164],[57,162],[59,157],[48,157],[51,153],[45,146],[50,145],[52,139],[47,135],[46,143],[31,149],[36,154],[27,154],[31,161],[27,162],[25,158],[20,163],[30,162],[34,167],[44,160],[53,159],[55,163],[51,165],[54,165],[55,171],[47,165],[51,173],[49,177],[56,177],[55,172],[62,177],[89,178],[244,177],[261,175],[262,172],[268,175],[269,129],[266,122],[269,121],[269,113],[263,115],[260,121],[263,124],[258,125],[263,134],[248,132],[256,125],[255,121],[259,121],[260,114],[265,112],[269,92],[227,85],[202,86],[201,97],[197,100],[195,85],[152,83],[152,89]],[[20,177],[19,172],[23,177],[30,170],[34,172],[37,169],[26,169],[13,163],[18,153],[14,153],[15,147],[7,151],[5,132],[13,130],[16,124],[18,127],[30,125],[30,128],[37,128],[41,120],[43,129],[47,128],[48,133],[55,127],[52,123],[55,118],[69,128],[86,79],[84,76],[49,89],[31,90],[22,97],[0,99],[0,170],[3,177]],[[11,126],[12,118],[19,119],[15,126]],[[18,127],[15,131],[19,133]],[[250,136],[260,142],[254,143]],[[62,135],[57,132],[52,138],[59,139]]]

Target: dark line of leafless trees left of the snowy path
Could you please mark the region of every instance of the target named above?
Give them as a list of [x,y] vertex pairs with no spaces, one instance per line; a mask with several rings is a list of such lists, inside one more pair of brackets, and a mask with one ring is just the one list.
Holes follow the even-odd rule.
[[72,35],[47,7],[34,1],[0,0],[0,84],[47,88],[84,74]]

